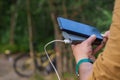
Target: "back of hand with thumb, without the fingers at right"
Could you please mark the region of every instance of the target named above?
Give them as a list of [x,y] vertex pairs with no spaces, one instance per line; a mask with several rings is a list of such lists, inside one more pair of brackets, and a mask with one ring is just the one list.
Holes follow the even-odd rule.
[[82,58],[89,58],[93,52],[92,43],[95,41],[96,36],[92,35],[80,44],[72,45],[73,55],[76,62]]

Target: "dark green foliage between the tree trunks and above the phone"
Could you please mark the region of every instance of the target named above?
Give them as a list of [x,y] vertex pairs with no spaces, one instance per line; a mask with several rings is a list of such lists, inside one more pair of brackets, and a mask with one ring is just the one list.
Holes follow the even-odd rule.
[[[29,50],[26,1],[20,1],[19,5],[17,5],[18,14],[14,31],[15,45],[9,45],[13,2],[7,0],[0,1],[1,52],[7,48],[13,52]],[[109,29],[112,18],[113,0],[53,0],[53,3],[56,10],[54,12],[57,16],[66,17],[64,16],[64,10],[66,9],[67,18],[69,19],[95,26],[101,32]],[[30,12],[32,15],[33,43],[37,44],[35,45],[35,50],[43,51],[44,45],[54,39],[54,28],[48,0],[30,0]],[[52,47],[50,46],[50,48]]]

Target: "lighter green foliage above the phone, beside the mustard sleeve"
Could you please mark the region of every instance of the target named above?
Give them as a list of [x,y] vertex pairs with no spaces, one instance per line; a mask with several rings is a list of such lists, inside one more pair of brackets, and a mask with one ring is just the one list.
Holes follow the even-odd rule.
[[[108,30],[111,24],[113,0],[76,0],[68,4],[69,17],[97,27],[101,32]],[[77,4],[77,5],[75,5]]]

